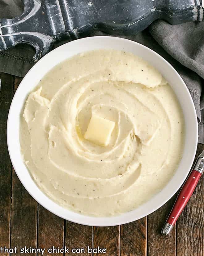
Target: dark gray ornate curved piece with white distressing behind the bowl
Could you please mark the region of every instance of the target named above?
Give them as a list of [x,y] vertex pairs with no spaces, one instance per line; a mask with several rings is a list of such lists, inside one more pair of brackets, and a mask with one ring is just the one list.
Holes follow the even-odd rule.
[[202,0],[23,0],[24,11],[0,19],[0,51],[19,43],[35,47],[37,61],[63,38],[84,37],[93,29],[136,34],[156,19],[170,24],[202,21]]

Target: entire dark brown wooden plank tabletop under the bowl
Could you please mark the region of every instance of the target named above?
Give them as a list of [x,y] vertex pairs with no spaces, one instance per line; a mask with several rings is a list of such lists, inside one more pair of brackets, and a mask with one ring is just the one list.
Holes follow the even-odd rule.
[[[24,189],[9,158],[6,122],[19,77],[1,73],[0,91],[0,247],[23,248],[106,248],[105,255],[121,256],[203,256],[203,178],[176,222],[171,235],[161,228],[176,199],[138,221],[115,227],[88,227],[66,221],[45,210]],[[15,129],[15,127],[14,127]],[[198,144],[197,155],[204,149]],[[0,255],[9,255],[2,253]],[[25,255],[10,254],[10,255]],[[35,253],[27,255],[36,255]],[[38,254],[40,255],[40,254]],[[50,255],[46,252],[43,255]],[[51,255],[64,255],[55,253]],[[68,255],[68,254],[65,254]],[[76,255],[69,253],[69,255]],[[78,255],[91,255],[88,253]],[[98,255],[98,254],[92,254]]]

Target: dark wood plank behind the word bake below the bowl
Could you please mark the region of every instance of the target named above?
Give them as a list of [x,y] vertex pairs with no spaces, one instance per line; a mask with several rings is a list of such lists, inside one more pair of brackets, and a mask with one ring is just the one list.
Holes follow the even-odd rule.
[[[94,227],[93,248],[105,248],[106,256],[120,255],[120,226]],[[94,256],[99,255],[97,253]]]

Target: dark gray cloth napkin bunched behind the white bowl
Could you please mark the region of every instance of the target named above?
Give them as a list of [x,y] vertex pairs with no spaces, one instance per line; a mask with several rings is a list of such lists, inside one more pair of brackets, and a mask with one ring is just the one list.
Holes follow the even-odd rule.
[[[0,18],[19,16],[23,11],[20,0],[0,0]],[[107,35],[94,31],[90,36]],[[144,31],[126,36],[141,43],[163,56],[181,75],[187,85],[198,117],[199,139],[204,143],[204,23],[189,22],[170,25],[164,20],[156,20]],[[54,48],[66,43],[54,44]],[[0,52],[0,71],[23,77],[35,64],[32,56],[34,48],[27,44],[17,45]]]

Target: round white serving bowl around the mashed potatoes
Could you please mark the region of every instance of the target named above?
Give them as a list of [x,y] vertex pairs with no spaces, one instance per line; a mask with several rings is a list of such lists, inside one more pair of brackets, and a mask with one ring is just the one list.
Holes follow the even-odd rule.
[[[28,169],[23,163],[19,143],[19,117],[24,102],[39,80],[55,65],[78,53],[94,49],[116,49],[125,52],[132,52],[141,56],[144,60],[153,65],[168,80],[181,104],[185,118],[185,148],[183,157],[174,176],[162,191],[152,197],[148,202],[131,212],[123,213],[115,217],[89,217],[70,210],[49,199],[32,180]],[[69,67],[67,67],[69,68]],[[49,52],[26,74],[20,83],[8,115],[7,143],[11,162],[20,181],[32,197],[50,212],[65,218],[66,220],[91,226],[114,226],[138,220],[165,204],[180,188],[185,181],[195,157],[198,143],[198,125],[195,107],[190,93],[176,70],[159,54],[151,49],[133,41],[108,36],[97,36],[82,38],[66,43]]]

